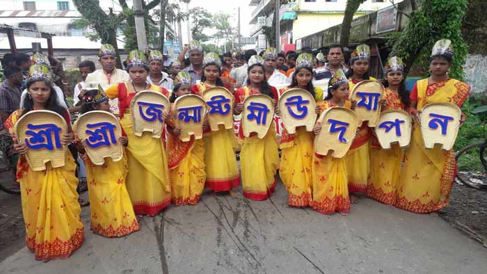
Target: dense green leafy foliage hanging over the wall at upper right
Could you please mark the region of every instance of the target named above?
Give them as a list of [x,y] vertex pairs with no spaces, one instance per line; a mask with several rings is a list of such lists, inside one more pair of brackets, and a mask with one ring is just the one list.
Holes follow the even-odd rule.
[[391,56],[399,56],[406,63],[406,70],[413,64],[428,71],[429,56],[434,43],[440,39],[452,40],[455,56],[449,76],[463,79],[463,64],[467,45],[462,38],[461,26],[468,0],[422,1],[417,11],[409,18],[408,27],[397,35],[390,36]]

